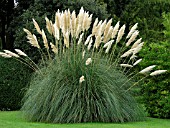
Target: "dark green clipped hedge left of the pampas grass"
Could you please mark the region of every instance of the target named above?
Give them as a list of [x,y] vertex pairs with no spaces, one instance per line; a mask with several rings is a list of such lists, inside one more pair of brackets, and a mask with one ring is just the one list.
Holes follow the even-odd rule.
[[17,110],[26,91],[31,70],[15,59],[0,57],[0,110]]

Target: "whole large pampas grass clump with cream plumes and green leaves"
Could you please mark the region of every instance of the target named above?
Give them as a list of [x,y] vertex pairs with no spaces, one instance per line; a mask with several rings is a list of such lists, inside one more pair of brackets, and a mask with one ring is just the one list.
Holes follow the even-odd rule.
[[[77,16],[74,11],[58,11],[54,24],[47,17],[45,20],[47,31],[54,37],[50,42],[46,30],[41,30],[34,19],[42,39],[24,29],[28,42],[42,55],[41,68],[19,49],[17,54],[6,50],[0,53],[35,70],[23,99],[25,117],[51,123],[143,120],[143,110],[130,94],[138,83],[132,81],[138,74],[132,68],[142,61],[136,60],[143,46],[142,39],[136,39],[137,24],[124,37],[125,25],[117,22],[113,27],[112,19],[97,18],[91,24],[92,15],[83,8]],[[46,51],[39,42],[43,42]],[[146,68],[139,74],[149,76],[152,69]]]

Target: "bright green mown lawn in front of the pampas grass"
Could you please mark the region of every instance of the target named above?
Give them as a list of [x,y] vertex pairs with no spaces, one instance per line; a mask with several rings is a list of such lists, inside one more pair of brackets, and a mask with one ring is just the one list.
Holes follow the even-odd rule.
[[20,117],[19,112],[0,112],[0,128],[170,128],[170,120],[147,118],[144,122],[131,122],[123,124],[45,124],[26,122]]

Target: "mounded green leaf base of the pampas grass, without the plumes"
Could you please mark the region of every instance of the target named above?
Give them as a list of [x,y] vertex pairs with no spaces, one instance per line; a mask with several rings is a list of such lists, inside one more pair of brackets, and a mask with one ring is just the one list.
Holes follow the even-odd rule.
[[[127,122],[144,115],[123,85],[128,78],[107,59],[68,50],[35,74],[22,110],[30,121],[51,123]],[[84,76],[84,81],[80,78]],[[126,82],[126,87],[130,86]]]

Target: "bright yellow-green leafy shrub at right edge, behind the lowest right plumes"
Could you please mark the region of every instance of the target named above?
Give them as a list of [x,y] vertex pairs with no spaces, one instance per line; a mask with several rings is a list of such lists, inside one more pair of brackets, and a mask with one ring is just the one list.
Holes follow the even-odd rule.
[[[141,63],[141,67],[156,64],[159,65],[157,69],[170,69],[170,14],[164,14],[163,16],[163,24],[166,28],[164,33],[167,41],[150,43],[148,47],[144,48],[141,55],[145,55],[145,59],[143,63]],[[149,115],[151,117],[170,118],[170,72],[162,76],[148,78],[146,82],[142,87],[142,94]]]

